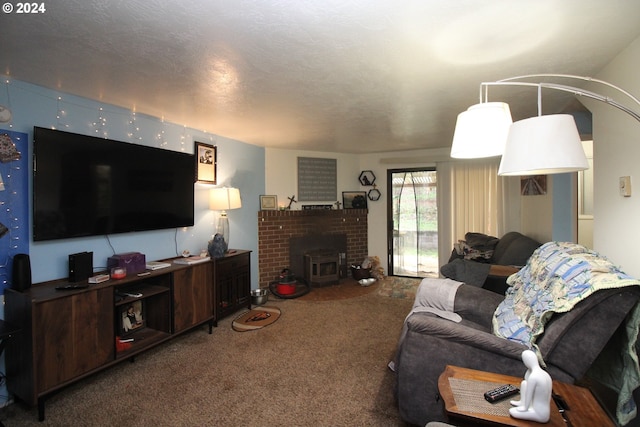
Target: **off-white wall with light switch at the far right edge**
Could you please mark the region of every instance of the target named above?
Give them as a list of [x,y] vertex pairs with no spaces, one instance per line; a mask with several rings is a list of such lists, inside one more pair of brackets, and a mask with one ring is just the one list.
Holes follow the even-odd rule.
[[[597,78],[615,84],[640,98],[640,38],[620,53]],[[590,87],[635,111],[640,105],[601,85]],[[602,102],[585,101],[593,113],[594,249],[622,269],[640,277],[640,122]],[[633,194],[622,197],[618,179],[631,176]]]

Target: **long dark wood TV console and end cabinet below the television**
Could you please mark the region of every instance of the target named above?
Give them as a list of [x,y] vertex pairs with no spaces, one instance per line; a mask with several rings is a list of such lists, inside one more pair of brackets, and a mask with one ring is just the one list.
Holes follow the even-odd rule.
[[[246,305],[251,308],[250,251],[194,265],[171,263],[148,275],[130,275],[86,288],[57,290],[65,280],[5,291],[5,320],[21,328],[6,347],[7,388],[38,405],[82,378],[132,358]],[[86,282],[85,282],[86,284]],[[229,296],[224,307],[219,298]],[[129,307],[142,310],[141,326],[125,330]],[[122,340],[133,339],[124,347]]]

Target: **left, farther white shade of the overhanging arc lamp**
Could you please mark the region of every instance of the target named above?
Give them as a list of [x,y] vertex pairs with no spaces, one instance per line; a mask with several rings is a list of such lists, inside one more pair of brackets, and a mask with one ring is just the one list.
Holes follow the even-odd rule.
[[451,157],[475,159],[502,155],[512,123],[509,104],[484,102],[458,114]]

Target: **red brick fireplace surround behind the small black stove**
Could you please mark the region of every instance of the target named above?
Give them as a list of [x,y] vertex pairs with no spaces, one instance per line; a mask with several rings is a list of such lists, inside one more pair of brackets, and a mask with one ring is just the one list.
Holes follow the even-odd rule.
[[[290,241],[302,237],[319,238],[319,247],[309,250],[335,249],[335,236],[344,235],[346,263],[360,264],[368,256],[368,223],[366,209],[341,210],[285,210],[258,212],[258,270],[260,287],[275,280],[283,268],[291,268],[297,276],[304,276],[304,260],[291,260]],[[329,242],[329,243],[326,243]],[[329,246],[329,247],[323,247]],[[341,252],[341,248],[336,249]],[[295,266],[295,267],[294,267]],[[348,268],[346,268],[349,271]]]

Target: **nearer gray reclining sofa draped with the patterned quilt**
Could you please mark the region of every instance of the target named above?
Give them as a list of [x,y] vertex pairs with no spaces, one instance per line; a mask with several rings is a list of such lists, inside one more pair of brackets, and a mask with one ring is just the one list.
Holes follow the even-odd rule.
[[[532,259],[535,256],[534,254]],[[576,256],[578,255],[569,255],[571,259]],[[540,264],[540,259],[537,261]],[[529,282],[538,281],[539,283],[533,283],[538,295],[542,295],[547,286],[551,288],[557,285],[550,282],[557,279],[554,274],[559,274],[557,270],[562,268],[557,268],[557,265],[538,265],[537,270],[533,271],[534,268],[529,267],[528,264],[518,275]],[[588,268],[584,277],[598,268]],[[536,276],[537,279],[532,279],[533,273],[539,275]],[[613,288],[587,290],[588,296],[582,298],[570,311],[556,310],[558,312],[545,314],[544,330],[535,340],[535,345],[546,364],[545,369],[554,380],[574,383],[583,378],[592,365],[595,366],[596,360],[599,365],[609,369],[609,361],[604,360],[607,351],[612,351],[613,357],[620,358],[623,350],[612,343],[628,334],[629,329],[625,326],[628,327],[631,313],[636,313],[634,321],[637,323],[640,286],[634,286],[634,283],[640,282],[634,282],[633,278],[628,278],[623,273],[616,273],[614,271],[612,276]],[[527,274],[531,275],[526,276]],[[513,376],[524,374],[521,354],[531,345],[495,333],[494,315],[499,312],[499,308],[504,309],[512,304],[510,293],[513,293],[515,287],[522,285],[514,280],[516,276],[510,278],[510,283],[516,284],[510,288],[506,297],[480,287],[459,285],[455,293],[454,312],[462,318],[460,322],[428,312],[415,312],[407,317],[405,333],[394,360],[395,395],[400,414],[406,422],[424,426],[430,421],[446,421],[437,388],[438,377],[446,365]],[[616,287],[618,277],[621,287]],[[580,282],[576,286],[580,287],[582,284],[584,283]],[[525,286],[533,285],[529,283]],[[637,328],[637,324],[633,326]],[[607,351],[603,352],[605,348]],[[637,368],[637,359],[632,367]],[[634,416],[633,413],[627,415]]]

